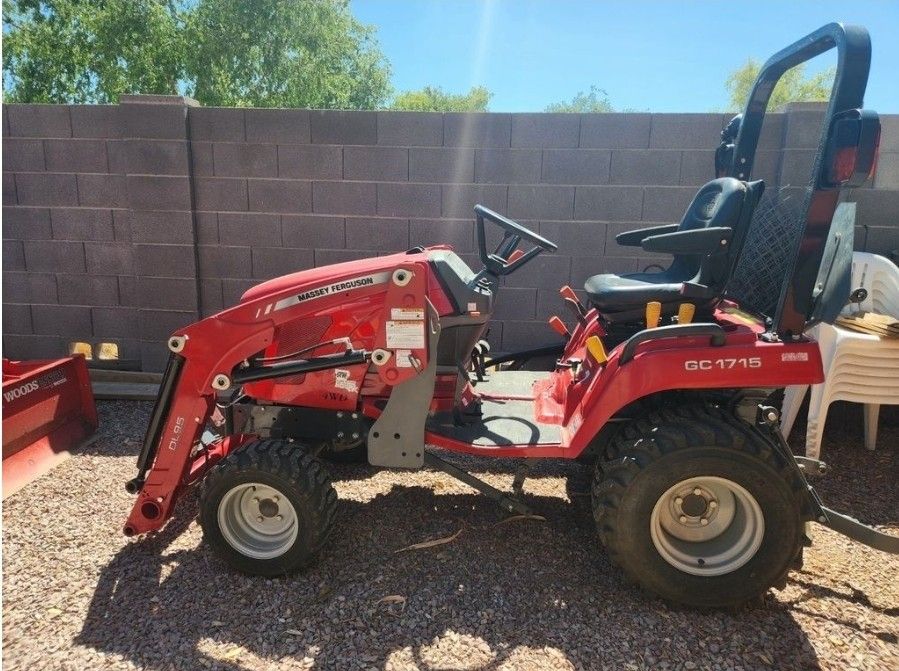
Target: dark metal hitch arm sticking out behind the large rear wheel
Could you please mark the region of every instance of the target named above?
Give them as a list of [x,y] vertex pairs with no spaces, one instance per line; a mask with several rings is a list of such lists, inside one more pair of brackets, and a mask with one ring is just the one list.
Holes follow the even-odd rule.
[[851,538],[875,550],[899,554],[899,536],[885,534],[872,526],[859,522],[854,517],[849,517],[849,515],[827,508],[821,503],[821,498],[818,496],[815,488],[808,484],[808,481],[805,479],[805,472],[807,468],[813,467],[819,473],[824,473],[827,470],[827,465],[817,459],[793,455],[793,451],[787,445],[786,439],[780,433],[780,412],[776,408],[768,405],[759,405],[756,421],[759,426],[768,430],[775,443],[780,447],[784,458],[788,463],[792,464],[796,474],[801,478],[802,483],[806,487],[807,502],[812,508],[815,521],[818,524],[833,529],[837,533],[841,533],[847,538]]

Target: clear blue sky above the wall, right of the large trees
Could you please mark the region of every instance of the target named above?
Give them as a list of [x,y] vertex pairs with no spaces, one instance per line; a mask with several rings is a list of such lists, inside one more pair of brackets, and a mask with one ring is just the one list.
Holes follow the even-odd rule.
[[[591,84],[616,108],[727,108],[724,81],[830,21],[859,23],[873,44],[865,99],[899,112],[899,0],[352,0],[378,27],[397,89],[494,93],[492,111],[541,111]],[[832,54],[833,52],[831,52]],[[810,70],[826,67],[822,56]],[[821,61],[818,63],[818,61]]]

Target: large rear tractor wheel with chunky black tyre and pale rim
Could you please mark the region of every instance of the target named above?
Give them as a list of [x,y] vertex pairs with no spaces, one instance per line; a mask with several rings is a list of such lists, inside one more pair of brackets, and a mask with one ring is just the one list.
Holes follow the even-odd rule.
[[782,584],[801,556],[802,489],[760,432],[712,406],[650,412],[597,463],[593,515],[645,589],[731,607]]

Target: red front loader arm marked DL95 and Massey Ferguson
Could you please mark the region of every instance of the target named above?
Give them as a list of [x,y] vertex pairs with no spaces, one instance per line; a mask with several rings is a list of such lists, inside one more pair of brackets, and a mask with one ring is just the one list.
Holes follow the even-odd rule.
[[[424,316],[414,319],[429,308],[429,281],[426,253],[303,271],[260,285],[235,307],[173,334],[168,340],[169,363],[138,458],[138,474],[126,486],[137,500],[125,535],[161,528],[185,489],[242,442],[242,437],[232,436],[200,445],[220,392],[261,379],[369,362],[388,386],[416,376],[429,361]],[[360,305],[366,308],[368,321],[364,328],[352,331],[353,338],[343,339],[343,351],[273,364],[257,358],[285,324],[321,315],[337,315],[335,319],[343,324],[347,321],[343,315]],[[397,311],[413,319],[398,321]],[[420,343],[409,337],[419,323]],[[399,339],[396,331],[401,332]]]

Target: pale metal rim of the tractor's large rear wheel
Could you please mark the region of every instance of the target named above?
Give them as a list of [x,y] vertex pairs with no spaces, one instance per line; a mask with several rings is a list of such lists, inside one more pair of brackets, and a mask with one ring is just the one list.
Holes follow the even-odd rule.
[[758,552],[765,518],[755,497],[732,480],[682,480],[656,501],[652,542],[662,558],[692,575],[731,573]]

